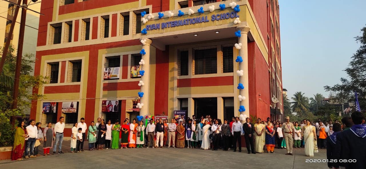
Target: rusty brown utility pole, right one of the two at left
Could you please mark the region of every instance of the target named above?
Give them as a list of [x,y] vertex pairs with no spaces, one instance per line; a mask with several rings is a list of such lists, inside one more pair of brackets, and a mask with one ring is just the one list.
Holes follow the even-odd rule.
[[[22,8],[22,16],[20,18],[20,29],[19,29],[19,42],[18,42],[18,52],[16,54],[16,65],[15,65],[15,78],[14,78],[14,90],[13,90],[13,109],[18,107],[18,94],[19,94],[19,78],[20,78],[20,70],[22,68],[22,53],[23,53],[23,42],[24,42],[24,31],[25,31],[25,22],[27,16],[27,5],[28,0],[23,0]],[[15,117],[12,116],[11,124],[14,126]]]

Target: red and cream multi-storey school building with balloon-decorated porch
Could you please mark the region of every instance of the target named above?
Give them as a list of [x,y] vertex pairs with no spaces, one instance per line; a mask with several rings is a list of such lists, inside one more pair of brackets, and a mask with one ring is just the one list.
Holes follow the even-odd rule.
[[[42,1],[31,119],[282,117],[277,0]],[[279,102],[273,103],[272,97]]]

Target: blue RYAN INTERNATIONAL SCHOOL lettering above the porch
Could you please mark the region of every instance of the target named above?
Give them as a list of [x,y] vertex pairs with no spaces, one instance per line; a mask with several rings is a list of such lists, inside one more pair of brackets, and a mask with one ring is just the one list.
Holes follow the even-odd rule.
[[[211,21],[214,20],[223,20],[223,19],[229,19],[229,18],[238,18],[239,15],[237,12],[227,12],[217,15],[211,16]],[[203,22],[210,22],[208,20],[208,16],[202,16],[197,18],[189,18],[189,19],[181,19],[181,20],[173,20],[170,22],[163,22],[163,23],[157,23],[157,24],[150,24],[146,25],[146,30],[157,30],[157,29],[164,29],[169,27],[176,27],[176,26],[183,26],[183,25],[190,25],[190,24],[198,24]]]

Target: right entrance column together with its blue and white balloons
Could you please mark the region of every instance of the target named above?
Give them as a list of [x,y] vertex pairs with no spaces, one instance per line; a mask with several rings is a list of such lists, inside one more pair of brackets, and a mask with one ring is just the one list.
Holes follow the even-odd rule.
[[250,28],[246,25],[240,25],[237,27],[235,34],[238,37],[238,44],[235,44],[236,49],[239,49],[239,70],[237,74],[239,76],[239,112],[240,120],[245,121],[246,117],[249,117],[249,91],[248,91],[248,32]]

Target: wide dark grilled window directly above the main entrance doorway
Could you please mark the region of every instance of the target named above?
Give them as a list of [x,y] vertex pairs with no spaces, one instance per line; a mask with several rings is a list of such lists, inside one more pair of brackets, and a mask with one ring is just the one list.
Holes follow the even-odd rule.
[[[204,47],[203,47],[204,48]],[[194,49],[194,74],[217,73],[217,49]]]

